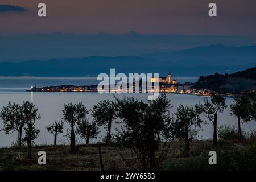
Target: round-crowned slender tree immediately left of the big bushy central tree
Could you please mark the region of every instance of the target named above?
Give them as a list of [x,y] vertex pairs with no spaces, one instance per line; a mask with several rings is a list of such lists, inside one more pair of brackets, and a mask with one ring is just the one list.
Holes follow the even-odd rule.
[[110,143],[112,121],[117,118],[117,104],[104,100],[93,106],[92,116],[99,126],[107,126],[106,144]]

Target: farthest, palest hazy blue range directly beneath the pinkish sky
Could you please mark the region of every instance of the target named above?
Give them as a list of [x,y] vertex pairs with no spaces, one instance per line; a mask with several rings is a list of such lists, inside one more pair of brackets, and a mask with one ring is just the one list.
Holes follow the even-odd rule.
[[[78,35],[56,32],[54,34],[0,36],[0,62],[145,54],[166,60],[165,57],[170,56],[170,51],[218,43],[237,47],[256,45],[256,37],[139,34],[134,31],[127,34]],[[202,48],[196,49],[200,51]],[[196,53],[196,50],[191,49],[191,51]],[[208,55],[208,52],[205,53]],[[181,52],[171,53],[171,56],[177,58],[180,55]],[[187,59],[190,59],[189,50],[187,50]],[[204,59],[203,54],[196,59]]]

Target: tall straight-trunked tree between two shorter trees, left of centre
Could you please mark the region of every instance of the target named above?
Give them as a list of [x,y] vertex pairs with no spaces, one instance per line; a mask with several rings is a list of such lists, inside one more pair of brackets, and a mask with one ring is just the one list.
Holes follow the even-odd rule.
[[71,126],[71,154],[75,153],[75,124],[89,113],[82,102],[73,104],[64,104],[63,119]]

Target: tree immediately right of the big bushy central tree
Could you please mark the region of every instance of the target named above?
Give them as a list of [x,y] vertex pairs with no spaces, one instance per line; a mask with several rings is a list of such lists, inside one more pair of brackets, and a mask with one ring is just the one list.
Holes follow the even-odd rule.
[[200,110],[193,106],[180,105],[175,113],[174,133],[177,138],[185,138],[185,152],[189,154],[189,130],[191,126],[200,127],[204,122],[200,117]]

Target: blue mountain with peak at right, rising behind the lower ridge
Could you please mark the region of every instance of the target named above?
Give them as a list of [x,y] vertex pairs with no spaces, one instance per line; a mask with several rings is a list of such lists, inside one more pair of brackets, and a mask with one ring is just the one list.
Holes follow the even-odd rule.
[[256,46],[224,46],[214,44],[198,46],[181,51],[142,55],[160,61],[171,61],[174,65],[242,65],[256,63]]

